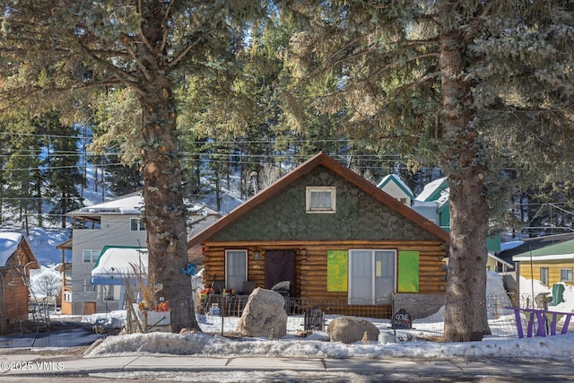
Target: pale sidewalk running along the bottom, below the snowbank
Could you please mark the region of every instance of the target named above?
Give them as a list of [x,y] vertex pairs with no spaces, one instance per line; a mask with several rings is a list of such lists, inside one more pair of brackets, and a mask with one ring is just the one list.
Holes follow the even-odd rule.
[[[348,373],[360,371],[362,375],[386,376],[512,376],[545,377],[572,376],[574,365],[565,361],[453,361],[422,359],[300,359],[265,357],[200,357],[179,355],[134,355],[83,358],[82,355],[51,355],[39,353],[0,355],[0,380],[9,377],[34,376],[105,376],[106,374],[149,373],[231,373],[233,371],[293,371],[315,373]],[[570,378],[568,380],[570,380]]]

